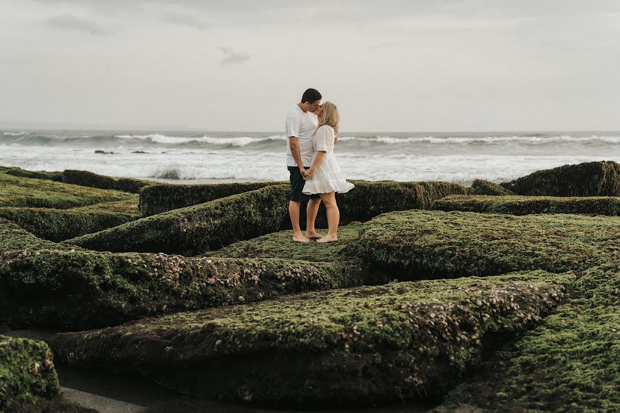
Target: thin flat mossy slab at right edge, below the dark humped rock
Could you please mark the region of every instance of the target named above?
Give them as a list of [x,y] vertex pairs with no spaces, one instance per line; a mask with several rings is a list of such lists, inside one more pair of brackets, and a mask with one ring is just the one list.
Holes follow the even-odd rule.
[[620,198],[451,195],[433,204],[438,211],[469,211],[528,215],[533,213],[578,213],[620,215]]

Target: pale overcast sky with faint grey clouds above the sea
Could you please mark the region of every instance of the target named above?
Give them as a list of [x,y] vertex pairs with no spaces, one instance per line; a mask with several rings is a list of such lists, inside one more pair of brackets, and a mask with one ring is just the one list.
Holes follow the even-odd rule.
[[0,0],[0,120],[280,131],[620,129],[620,1]]

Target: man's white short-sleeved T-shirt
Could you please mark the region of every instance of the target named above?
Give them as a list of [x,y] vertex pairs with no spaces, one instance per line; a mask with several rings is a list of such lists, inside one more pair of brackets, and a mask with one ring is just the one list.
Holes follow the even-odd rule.
[[304,167],[310,167],[312,158],[312,137],[318,128],[318,118],[312,112],[304,112],[301,107],[295,105],[293,110],[289,112],[286,120],[287,131],[287,167],[296,167],[297,162],[293,158],[291,152],[291,142],[289,137],[296,136],[299,145],[299,151]]

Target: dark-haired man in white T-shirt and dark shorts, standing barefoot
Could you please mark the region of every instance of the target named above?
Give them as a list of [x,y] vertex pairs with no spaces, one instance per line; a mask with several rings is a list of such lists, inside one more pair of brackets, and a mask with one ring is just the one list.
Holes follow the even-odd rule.
[[291,194],[289,196],[289,216],[293,226],[293,241],[310,242],[318,239],[320,234],[314,229],[314,221],[318,214],[321,198],[318,194],[310,195],[306,209],[306,235],[299,226],[300,204],[304,189],[304,174],[310,167],[312,158],[312,137],[318,127],[318,118],[315,112],[321,104],[321,94],[316,89],[307,89],[302,95],[300,103],[293,107],[286,119],[287,131],[287,168],[291,179]]

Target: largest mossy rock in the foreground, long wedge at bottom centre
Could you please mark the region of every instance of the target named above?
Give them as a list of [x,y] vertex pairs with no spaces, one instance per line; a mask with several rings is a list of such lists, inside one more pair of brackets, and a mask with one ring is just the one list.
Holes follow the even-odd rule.
[[[50,339],[63,362],[294,407],[440,395],[555,308],[570,275],[404,282],[144,319]],[[209,374],[204,374],[205,369]]]

